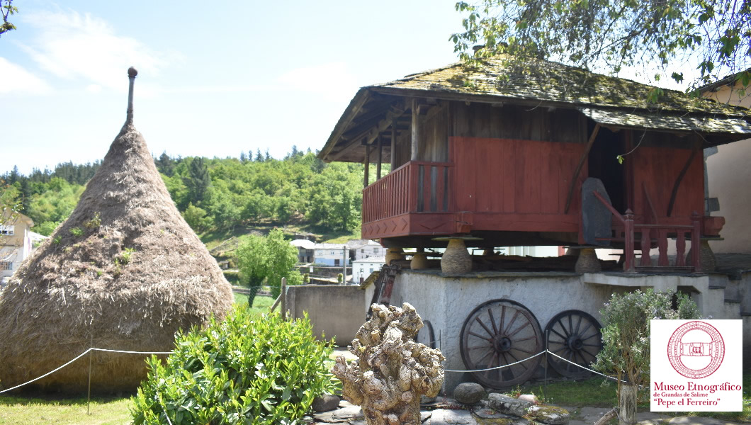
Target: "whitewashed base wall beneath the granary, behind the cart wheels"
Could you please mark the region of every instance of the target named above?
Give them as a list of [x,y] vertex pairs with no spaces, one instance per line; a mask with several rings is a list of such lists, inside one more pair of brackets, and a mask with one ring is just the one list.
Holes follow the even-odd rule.
[[[421,318],[433,324],[437,347],[446,357],[445,369],[466,369],[460,354],[460,333],[467,316],[481,303],[505,298],[523,304],[537,318],[544,331],[547,322],[559,312],[577,309],[600,320],[599,310],[614,293],[655,288],[669,291],[681,288],[695,291],[692,298],[702,315],[713,318],[740,318],[724,303],[722,289],[710,289],[709,277],[646,276],[626,273],[499,273],[442,277],[436,270],[404,270],[397,276],[391,304],[407,302]],[[743,328],[744,333],[749,329]],[[748,336],[748,335],[746,335]],[[541,363],[543,364],[543,363]],[[445,390],[451,391],[469,374],[447,372]]]

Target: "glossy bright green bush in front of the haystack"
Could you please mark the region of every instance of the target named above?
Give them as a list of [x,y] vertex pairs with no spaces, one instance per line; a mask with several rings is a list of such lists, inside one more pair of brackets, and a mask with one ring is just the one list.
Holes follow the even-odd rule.
[[236,306],[225,321],[178,334],[162,364],[133,398],[134,425],[294,424],[313,398],[335,390],[324,364],[330,344],[316,341],[307,318],[252,318]]

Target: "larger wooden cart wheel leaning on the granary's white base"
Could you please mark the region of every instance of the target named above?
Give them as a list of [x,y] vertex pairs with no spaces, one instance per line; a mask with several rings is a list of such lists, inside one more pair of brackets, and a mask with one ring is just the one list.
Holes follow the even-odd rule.
[[[535,315],[511,300],[490,300],[467,316],[459,339],[467,370],[490,369],[524,360],[542,351],[544,337]],[[542,356],[502,369],[472,372],[481,384],[511,387],[527,381]]]

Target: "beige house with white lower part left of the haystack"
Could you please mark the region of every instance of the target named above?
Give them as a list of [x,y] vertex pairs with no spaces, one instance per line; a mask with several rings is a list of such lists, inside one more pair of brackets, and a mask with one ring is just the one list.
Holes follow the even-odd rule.
[[11,217],[11,210],[2,212],[0,225],[0,279],[9,278],[32,252],[32,219],[20,213]]

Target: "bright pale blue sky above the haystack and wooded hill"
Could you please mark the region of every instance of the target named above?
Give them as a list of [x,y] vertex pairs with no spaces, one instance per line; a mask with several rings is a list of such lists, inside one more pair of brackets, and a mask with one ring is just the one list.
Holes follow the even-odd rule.
[[17,0],[0,37],[0,173],[103,158],[131,65],[154,155],[320,149],[358,87],[456,62],[454,2]]

